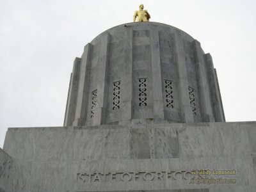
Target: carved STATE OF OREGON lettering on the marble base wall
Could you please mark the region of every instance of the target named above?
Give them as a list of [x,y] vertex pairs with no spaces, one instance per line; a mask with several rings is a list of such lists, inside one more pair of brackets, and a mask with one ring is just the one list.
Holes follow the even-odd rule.
[[77,173],[77,182],[129,182],[153,180],[189,180],[190,171],[163,172],[115,172],[115,173]]

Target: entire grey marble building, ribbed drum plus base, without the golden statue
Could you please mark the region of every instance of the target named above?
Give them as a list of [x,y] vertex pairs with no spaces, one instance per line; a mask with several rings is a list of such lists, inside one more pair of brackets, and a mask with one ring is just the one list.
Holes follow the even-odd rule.
[[123,24],[74,61],[63,127],[8,129],[0,192],[252,192],[255,134],[256,122],[225,122],[198,41]]

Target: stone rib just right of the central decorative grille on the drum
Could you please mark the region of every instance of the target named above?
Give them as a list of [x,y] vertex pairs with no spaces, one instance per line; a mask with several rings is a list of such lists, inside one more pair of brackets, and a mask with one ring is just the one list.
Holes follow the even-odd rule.
[[[153,26],[154,27],[154,26]],[[152,92],[154,118],[164,119],[162,76],[159,51],[159,34],[156,29],[151,29],[151,64],[152,64]]]

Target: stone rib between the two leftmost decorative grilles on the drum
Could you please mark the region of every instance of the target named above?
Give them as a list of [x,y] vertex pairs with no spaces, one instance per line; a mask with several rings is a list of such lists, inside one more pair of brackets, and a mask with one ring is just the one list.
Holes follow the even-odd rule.
[[93,125],[105,122],[105,113],[108,106],[108,58],[109,58],[109,33],[102,35],[99,52],[99,68],[97,72],[97,105]]

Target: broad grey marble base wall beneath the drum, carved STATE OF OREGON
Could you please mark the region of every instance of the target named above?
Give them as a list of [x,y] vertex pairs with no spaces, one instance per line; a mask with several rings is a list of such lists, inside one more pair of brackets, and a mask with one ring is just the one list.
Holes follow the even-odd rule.
[[[256,122],[143,120],[122,126],[10,128],[0,162],[12,179],[2,176],[0,184],[5,191],[254,191],[255,129]],[[189,184],[191,175],[184,173],[195,169],[236,170],[236,175],[222,175],[236,184]]]

